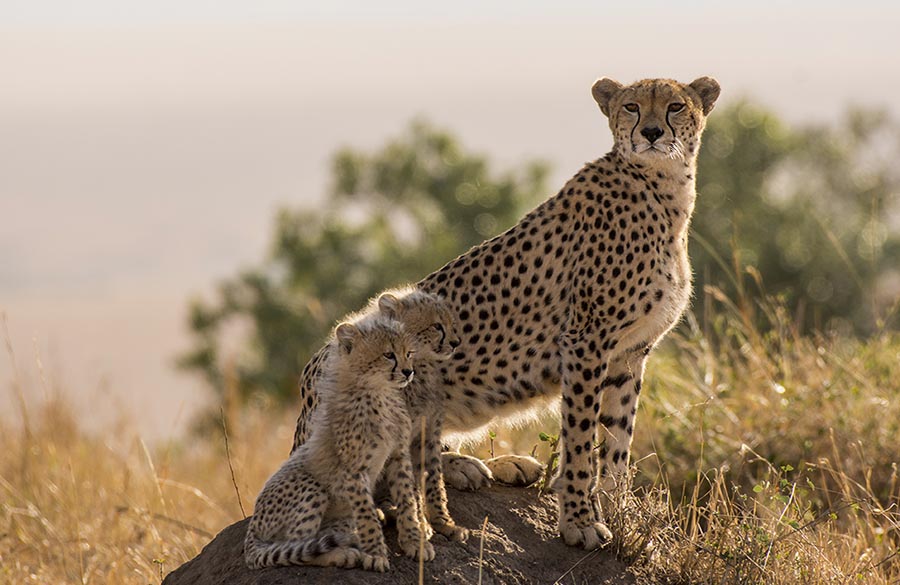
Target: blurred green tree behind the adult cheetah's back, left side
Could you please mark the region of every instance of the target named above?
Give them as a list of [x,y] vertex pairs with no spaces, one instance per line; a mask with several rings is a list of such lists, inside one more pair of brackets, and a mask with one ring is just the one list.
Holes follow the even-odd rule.
[[337,319],[514,224],[546,196],[546,174],[535,161],[492,172],[423,122],[377,152],[341,150],[324,207],[279,211],[269,258],[192,303],[196,345],[180,365],[220,395],[233,384],[243,397],[293,398]]

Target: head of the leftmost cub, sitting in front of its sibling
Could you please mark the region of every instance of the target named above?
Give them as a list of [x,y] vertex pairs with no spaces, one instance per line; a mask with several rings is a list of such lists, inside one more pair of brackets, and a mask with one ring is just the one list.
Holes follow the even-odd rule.
[[414,348],[400,323],[389,319],[341,323],[334,339],[337,367],[363,384],[404,388],[412,381]]

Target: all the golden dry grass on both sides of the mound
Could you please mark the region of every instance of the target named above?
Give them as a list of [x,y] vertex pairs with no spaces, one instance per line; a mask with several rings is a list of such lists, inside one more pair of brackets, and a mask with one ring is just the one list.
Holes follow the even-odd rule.
[[[777,302],[709,292],[648,369],[617,553],[656,583],[897,583],[900,336],[803,337]],[[229,458],[221,436],[147,448],[63,398],[22,405],[0,426],[0,582],[159,582],[242,517],[295,416],[227,409]],[[497,451],[546,457],[553,420],[495,429]]]

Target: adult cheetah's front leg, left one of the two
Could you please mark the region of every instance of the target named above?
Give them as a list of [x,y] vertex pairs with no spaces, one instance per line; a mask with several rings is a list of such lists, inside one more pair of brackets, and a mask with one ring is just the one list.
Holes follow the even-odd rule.
[[566,544],[598,548],[612,538],[595,505],[597,413],[606,362],[588,331],[560,338],[563,358],[560,465],[552,489],[559,499],[559,533]]

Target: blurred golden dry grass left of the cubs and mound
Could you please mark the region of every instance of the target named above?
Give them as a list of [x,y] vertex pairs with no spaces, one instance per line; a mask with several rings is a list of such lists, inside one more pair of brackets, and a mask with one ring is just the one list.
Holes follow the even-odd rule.
[[159,583],[242,517],[235,486],[255,498],[295,418],[229,424],[233,484],[222,444],[93,436],[61,398],[29,414],[0,426],[0,583]]

